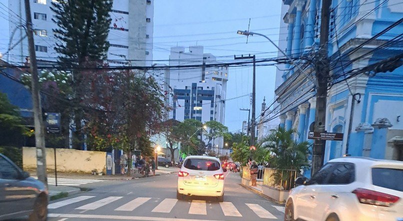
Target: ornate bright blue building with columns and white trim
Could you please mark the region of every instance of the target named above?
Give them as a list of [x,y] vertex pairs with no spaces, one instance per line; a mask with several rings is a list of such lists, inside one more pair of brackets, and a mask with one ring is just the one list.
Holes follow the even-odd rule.
[[[305,73],[289,64],[284,65],[285,71],[277,71],[276,111],[280,126],[295,129],[294,138],[304,141],[316,110],[315,86],[309,78],[315,75],[312,59],[319,43],[321,1],[282,3],[279,46],[297,59]],[[325,130],[343,133],[343,140],[326,142],[324,162],[344,154],[403,160],[403,68],[375,75],[350,73],[402,52],[401,20],[387,32],[381,31],[403,17],[403,2],[333,0],[330,11],[328,56],[333,85],[328,88]]]

